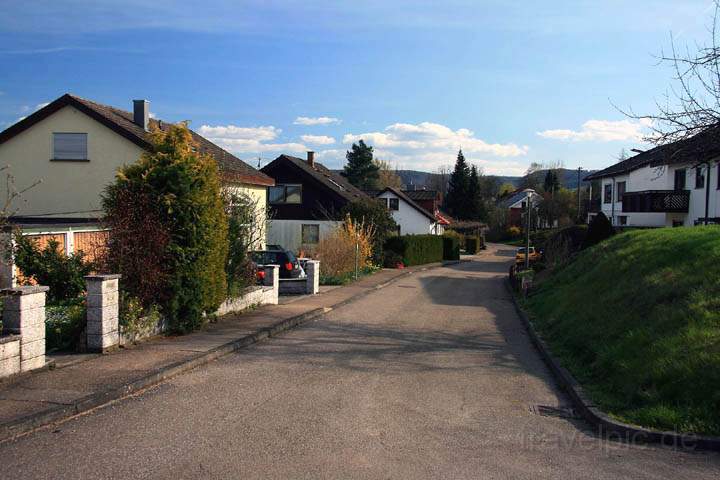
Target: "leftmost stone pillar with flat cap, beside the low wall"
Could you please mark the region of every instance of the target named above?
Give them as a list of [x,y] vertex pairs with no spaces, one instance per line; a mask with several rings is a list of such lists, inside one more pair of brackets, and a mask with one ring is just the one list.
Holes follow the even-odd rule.
[[20,335],[20,371],[45,366],[45,292],[49,287],[6,288],[3,332]]

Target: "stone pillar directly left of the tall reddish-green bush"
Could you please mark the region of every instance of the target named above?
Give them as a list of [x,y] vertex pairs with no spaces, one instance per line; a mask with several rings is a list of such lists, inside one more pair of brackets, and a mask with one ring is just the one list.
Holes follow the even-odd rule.
[[106,352],[120,343],[118,333],[120,275],[89,275],[87,285],[87,348]]

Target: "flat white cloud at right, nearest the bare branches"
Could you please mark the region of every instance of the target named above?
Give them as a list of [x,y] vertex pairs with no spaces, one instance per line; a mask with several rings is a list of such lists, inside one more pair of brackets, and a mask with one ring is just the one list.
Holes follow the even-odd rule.
[[651,120],[588,120],[583,123],[581,130],[545,130],[537,134],[543,138],[563,141],[639,141],[647,135],[647,127],[652,125]]

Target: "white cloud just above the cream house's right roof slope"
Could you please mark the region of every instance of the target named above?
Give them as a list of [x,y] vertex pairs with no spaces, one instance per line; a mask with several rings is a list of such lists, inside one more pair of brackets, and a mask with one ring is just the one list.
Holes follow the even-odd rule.
[[236,125],[203,125],[198,133],[213,143],[233,153],[283,153],[304,152],[308,148],[301,143],[273,143],[282,130],[273,126],[238,127]]

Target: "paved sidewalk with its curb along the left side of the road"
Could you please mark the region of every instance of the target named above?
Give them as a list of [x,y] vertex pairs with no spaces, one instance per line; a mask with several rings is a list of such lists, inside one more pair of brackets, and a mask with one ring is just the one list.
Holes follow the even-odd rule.
[[0,383],[0,442],[86,412],[293,328],[414,271],[382,270],[319,295],[226,315],[182,337],[158,337],[107,355],[49,357],[56,368]]

